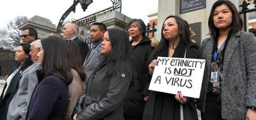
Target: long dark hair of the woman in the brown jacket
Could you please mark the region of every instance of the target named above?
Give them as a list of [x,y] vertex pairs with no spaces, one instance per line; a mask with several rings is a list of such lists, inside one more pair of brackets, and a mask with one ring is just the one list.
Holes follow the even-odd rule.
[[72,40],[66,40],[68,42],[68,53],[69,53],[69,62],[70,67],[78,72],[82,81],[85,80],[86,74],[83,70],[82,57],[78,45]]

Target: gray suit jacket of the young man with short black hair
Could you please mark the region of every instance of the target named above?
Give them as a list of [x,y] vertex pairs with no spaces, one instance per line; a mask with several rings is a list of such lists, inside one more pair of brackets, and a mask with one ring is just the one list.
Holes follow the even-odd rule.
[[[95,68],[95,64],[97,63],[97,58],[98,56],[101,54],[101,44],[99,44],[95,49],[90,49],[90,51],[88,52],[84,64],[83,64],[83,68],[84,68],[84,72],[86,73],[86,79],[88,79],[91,74],[94,72],[94,68]],[[86,80],[83,81],[83,88],[86,88]]]

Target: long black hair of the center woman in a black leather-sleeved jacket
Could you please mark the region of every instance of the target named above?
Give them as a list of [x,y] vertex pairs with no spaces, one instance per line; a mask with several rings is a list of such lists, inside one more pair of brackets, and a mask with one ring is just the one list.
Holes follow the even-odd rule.
[[[112,76],[120,70],[120,66],[124,61],[131,66],[129,36],[122,29],[110,28],[107,30],[112,50],[108,56],[109,64],[107,65],[107,76]],[[127,67],[128,69],[129,67]],[[132,70],[128,70],[132,72]]]

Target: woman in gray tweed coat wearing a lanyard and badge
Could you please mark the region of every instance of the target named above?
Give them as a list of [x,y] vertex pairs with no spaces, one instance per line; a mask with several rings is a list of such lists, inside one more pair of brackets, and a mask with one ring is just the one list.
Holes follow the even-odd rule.
[[206,59],[198,109],[202,120],[256,119],[256,38],[228,0],[216,1],[203,40]]

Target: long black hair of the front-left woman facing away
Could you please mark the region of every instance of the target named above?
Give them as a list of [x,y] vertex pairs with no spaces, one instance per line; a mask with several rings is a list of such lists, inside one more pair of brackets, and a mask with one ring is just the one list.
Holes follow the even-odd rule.
[[43,48],[42,71],[45,75],[56,75],[69,85],[72,82],[68,47],[64,39],[49,36],[41,40]]

